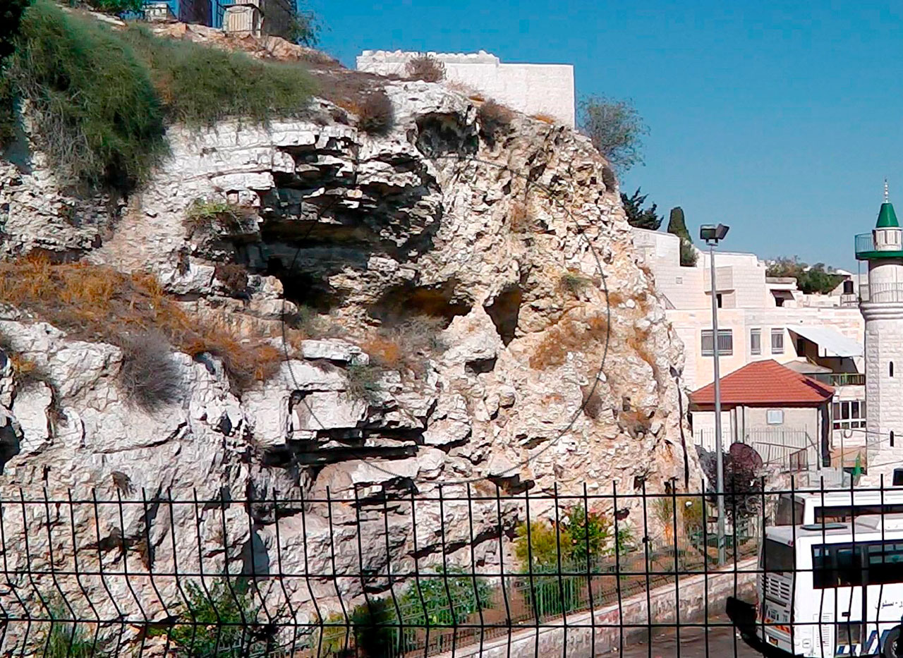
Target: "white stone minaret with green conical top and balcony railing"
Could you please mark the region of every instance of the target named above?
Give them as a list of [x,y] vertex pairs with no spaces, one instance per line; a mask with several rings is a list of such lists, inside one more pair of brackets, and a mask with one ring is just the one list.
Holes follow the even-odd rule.
[[[871,233],[856,236],[856,258],[869,264],[865,320],[865,401],[869,476],[891,472],[903,460],[903,231],[888,196]],[[879,453],[881,455],[879,456]],[[877,468],[884,465],[884,468]],[[876,468],[872,468],[874,465]],[[874,471],[874,472],[873,472]]]

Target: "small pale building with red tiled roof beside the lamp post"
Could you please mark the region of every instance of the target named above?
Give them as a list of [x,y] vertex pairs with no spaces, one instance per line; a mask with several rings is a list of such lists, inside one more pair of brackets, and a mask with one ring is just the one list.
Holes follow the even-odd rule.
[[[753,361],[721,377],[724,445],[738,440],[750,442],[750,437],[759,440],[766,437],[766,442],[771,438],[776,445],[781,445],[791,432],[796,437],[805,432],[813,445],[821,446],[824,459],[830,454],[833,394],[832,386],[781,366],[777,361]],[[694,436],[713,428],[714,403],[714,383],[690,394]]]

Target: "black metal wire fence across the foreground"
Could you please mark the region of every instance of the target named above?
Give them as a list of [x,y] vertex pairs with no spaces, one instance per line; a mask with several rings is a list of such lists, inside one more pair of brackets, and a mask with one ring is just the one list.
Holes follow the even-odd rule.
[[[712,493],[640,481],[628,491],[476,483],[244,499],[120,484],[104,497],[0,490],[4,655],[756,654],[775,644],[768,628],[810,633],[827,618],[763,608],[756,626],[755,608],[740,603],[756,602],[757,578],[767,590],[787,582],[761,578],[768,547],[777,555],[766,542],[757,559],[766,526],[807,521],[826,537],[852,514],[903,511],[903,490],[883,485],[852,498],[756,480],[724,495],[720,539]],[[899,543],[903,555],[903,531]],[[780,566],[818,579],[830,565]],[[865,608],[837,612],[831,643],[816,643],[832,655],[855,653],[857,625],[855,637],[870,625],[888,635]]]

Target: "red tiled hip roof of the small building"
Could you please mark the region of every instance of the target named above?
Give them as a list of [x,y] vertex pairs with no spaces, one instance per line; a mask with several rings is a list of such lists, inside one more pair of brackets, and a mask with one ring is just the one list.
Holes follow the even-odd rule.
[[[805,406],[815,407],[830,399],[832,386],[800,375],[777,361],[753,361],[730,375],[721,377],[721,407]],[[711,407],[715,403],[714,383],[690,394],[690,403]]]

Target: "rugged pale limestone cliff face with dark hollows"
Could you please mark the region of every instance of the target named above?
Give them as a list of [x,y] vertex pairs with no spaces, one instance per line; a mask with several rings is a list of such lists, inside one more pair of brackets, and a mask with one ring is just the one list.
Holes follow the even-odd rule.
[[[121,384],[119,348],[9,310],[7,349],[43,378],[23,385],[0,369],[0,495],[46,487],[61,499],[94,490],[131,501],[122,519],[115,505],[73,513],[97,535],[89,544],[125,545],[130,570],[149,569],[142,551],[153,544],[155,570],[171,570],[175,552],[193,556],[182,570],[202,558],[211,569],[281,561],[285,571],[328,573],[334,556],[355,573],[358,559],[385,570],[386,550],[404,564],[414,542],[433,557],[442,542],[432,504],[417,510],[416,537],[401,504],[386,534],[379,492],[699,486],[673,376],[683,347],[635,260],[619,191],[603,182],[607,163],[581,135],[525,116],[487,134],[474,102],[441,85],[390,81],[386,94],[396,119],[382,136],[359,131],[353,116],[337,122],[339,108],[319,100],[309,120],[174,126],[169,159],[118,204],[69,198],[40,154],[30,172],[0,162],[5,255],[41,249],[149,269],[201,310],[228,309],[237,327],[278,327],[301,306],[328,311],[338,336],[289,352],[276,332],[286,350],[279,372],[241,392],[215,357],[173,354],[182,397],[148,412]],[[196,199],[245,213],[236,226],[200,230],[186,221]],[[225,263],[247,268],[240,292]],[[359,339],[419,314],[441,322],[429,354],[399,343],[393,359]],[[142,503],[194,496],[221,503],[173,505],[172,518]],[[302,496],[310,502],[272,503]],[[327,496],[360,500],[330,509]],[[240,503],[248,497],[259,503]],[[459,547],[452,559],[470,559],[472,543],[480,564],[503,557],[483,531],[524,520],[512,501],[477,502],[471,542],[467,504],[443,509],[444,541]],[[27,523],[5,519],[7,554],[24,551]],[[389,545],[358,555],[371,523]],[[46,535],[30,542],[33,555],[49,550]],[[101,557],[121,569],[123,551]],[[327,584],[313,596],[329,611]],[[104,583],[85,587],[99,597]],[[126,596],[123,579],[113,587]],[[163,598],[177,593],[162,587]],[[350,603],[363,600],[358,579],[338,587]],[[150,590],[140,596],[149,601]],[[311,614],[302,584],[278,596]],[[164,614],[153,603],[145,612]]]

